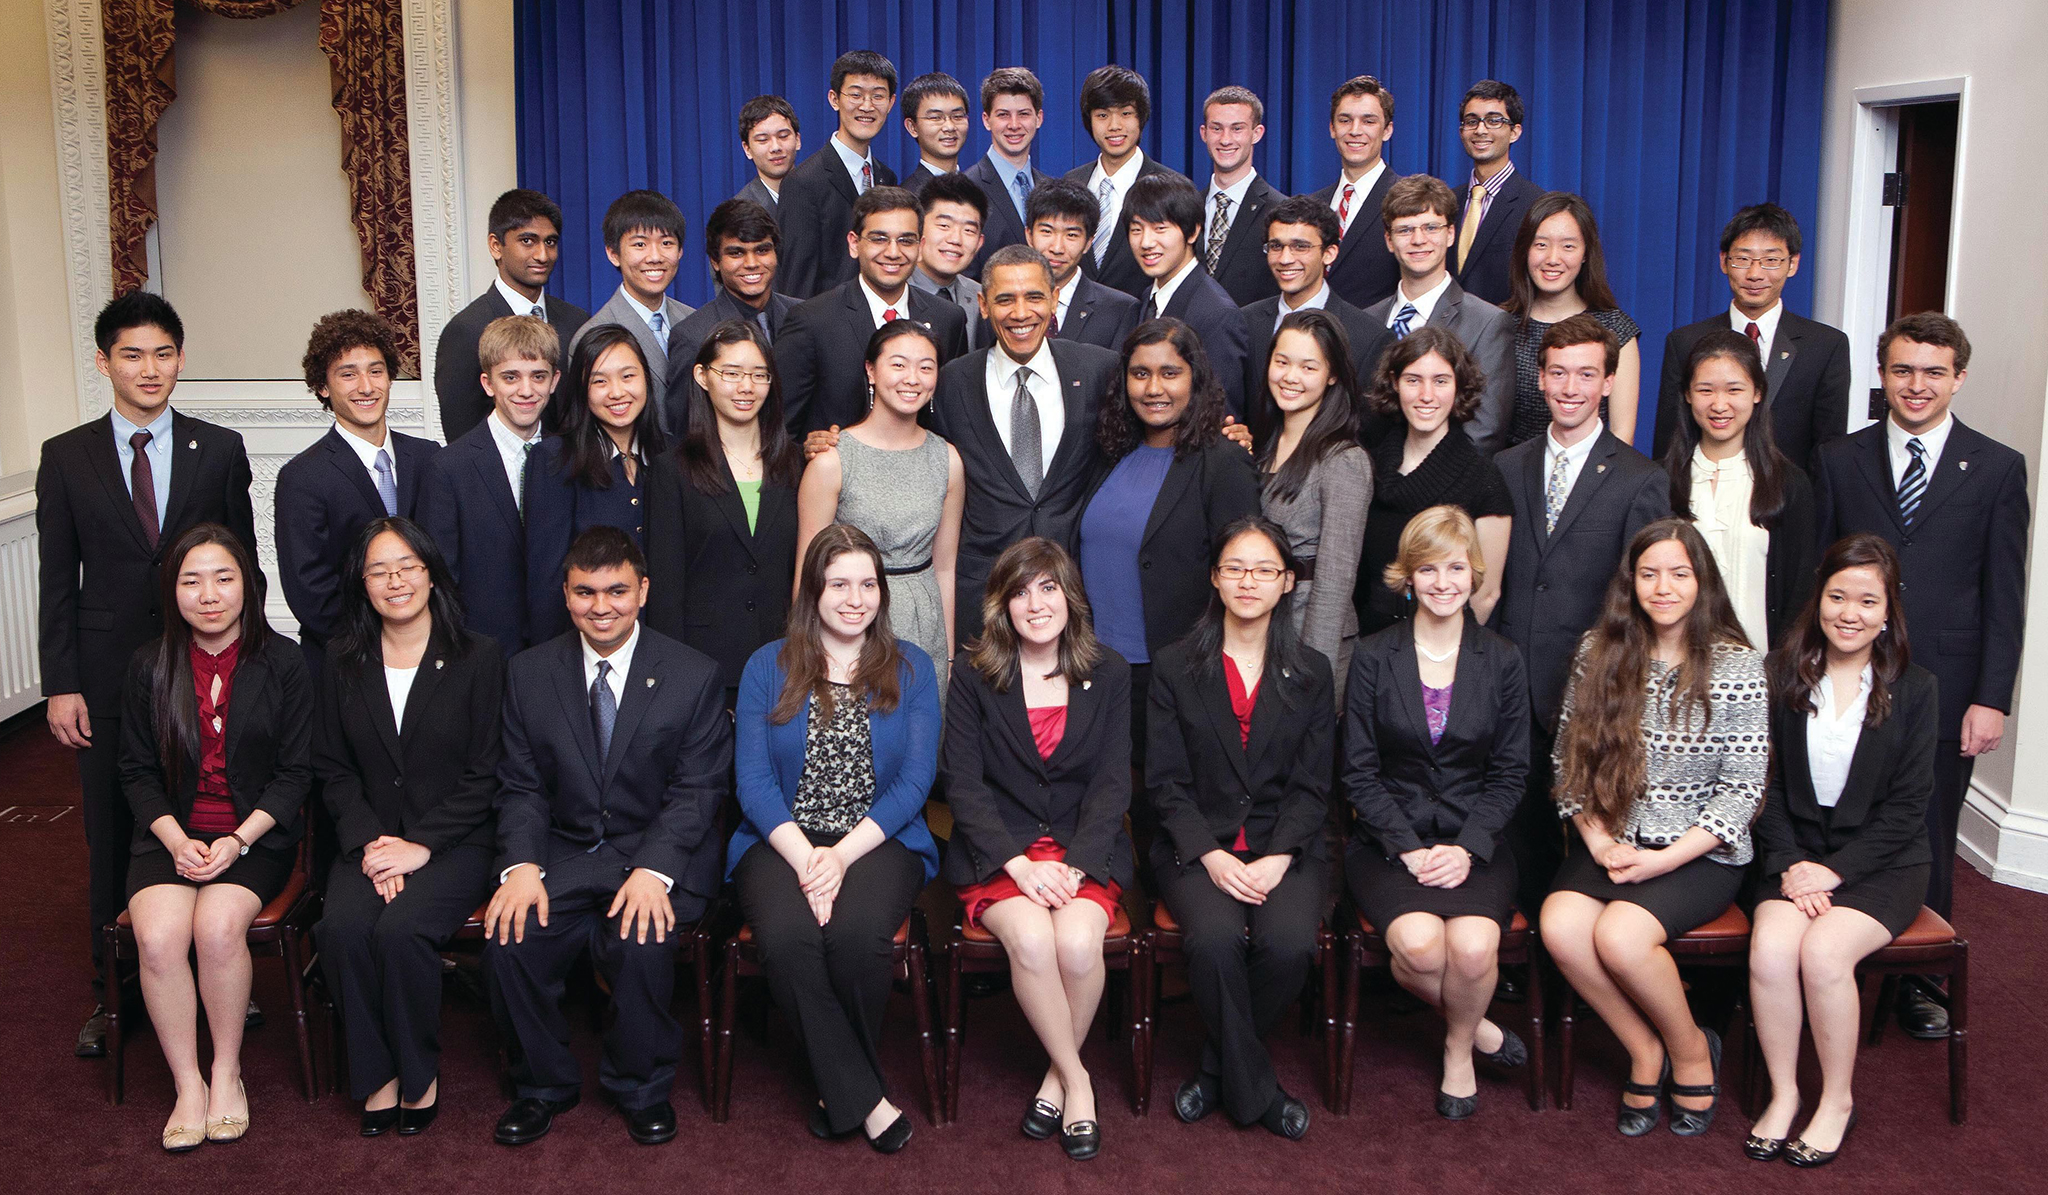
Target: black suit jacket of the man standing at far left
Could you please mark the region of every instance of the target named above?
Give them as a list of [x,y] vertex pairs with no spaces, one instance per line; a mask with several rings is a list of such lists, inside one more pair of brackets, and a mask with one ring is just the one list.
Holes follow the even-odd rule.
[[[156,547],[129,500],[113,416],[43,441],[35,471],[43,695],[80,693],[94,717],[121,717],[129,658],[164,633],[158,570],[170,545],[199,523],[221,523],[256,555],[242,435],[176,410],[170,435],[170,502],[158,510]],[[248,592],[262,601],[260,574]]]

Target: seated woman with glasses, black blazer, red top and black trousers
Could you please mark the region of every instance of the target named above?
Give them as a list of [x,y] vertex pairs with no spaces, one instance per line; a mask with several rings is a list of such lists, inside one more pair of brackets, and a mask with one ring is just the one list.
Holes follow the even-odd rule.
[[1180,920],[1208,1029],[1174,1093],[1198,1121],[1225,1107],[1300,1140],[1309,1105],[1280,1090],[1260,1037],[1300,994],[1323,920],[1335,697],[1329,660],[1294,635],[1294,553],[1253,514],[1217,537],[1208,613],[1159,652],[1145,793],[1159,900]]

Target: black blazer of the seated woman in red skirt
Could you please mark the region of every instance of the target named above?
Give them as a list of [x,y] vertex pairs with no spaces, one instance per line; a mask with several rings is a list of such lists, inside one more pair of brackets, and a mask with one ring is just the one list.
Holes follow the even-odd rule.
[[946,883],[981,883],[1053,838],[1090,879],[1130,888],[1130,664],[1116,652],[1104,648],[1090,678],[1067,685],[1067,730],[1053,758],[1040,758],[1030,736],[1024,685],[997,693],[961,652],[940,767],[952,808]]

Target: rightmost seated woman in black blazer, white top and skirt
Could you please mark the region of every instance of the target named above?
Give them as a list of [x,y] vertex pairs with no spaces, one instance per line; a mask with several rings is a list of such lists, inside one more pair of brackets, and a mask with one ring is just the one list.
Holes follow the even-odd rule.
[[[1769,658],[1774,765],[1757,816],[1749,992],[1772,1103],[1743,1150],[1823,1166],[1855,1123],[1855,965],[1905,933],[1927,894],[1935,678],[1911,662],[1898,558],[1878,535],[1827,549],[1819,592]],[[1800,1140],[1800,1008],[1821,1101]]]

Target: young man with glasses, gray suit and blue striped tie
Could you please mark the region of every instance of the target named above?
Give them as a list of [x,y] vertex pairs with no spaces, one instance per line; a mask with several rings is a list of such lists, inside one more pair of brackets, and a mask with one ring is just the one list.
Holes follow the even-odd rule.
[[1456,238],[1456,219],[1458,197],[1440,178],[1409,174],[1386,189],[1380,223],[1386,228],[1386,250],[1401,266],[1401,285],[1366,307],[1366,320],[1386,328],[1395,340],[1415,328],[1448,328],[1464,340],[1487,371],[1479,414],[1464,424],[1464,435],[1491,457],[1507,445],[1507,418],[1516,406],[1513,320],[1493,303],[1466,295],[1450,277],[1444,262]]

